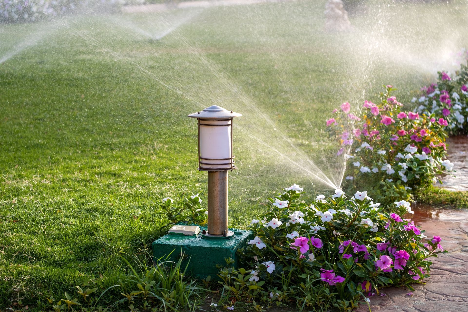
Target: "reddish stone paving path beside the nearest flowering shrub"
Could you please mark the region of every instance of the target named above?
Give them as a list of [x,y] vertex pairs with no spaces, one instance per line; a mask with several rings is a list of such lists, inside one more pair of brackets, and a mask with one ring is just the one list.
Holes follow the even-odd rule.
[[[468,210],[443,210],[415,206],[412,220],[425,235],[439,235],[448,251],[432,260],[426,284],[385,288],[387,296],[370,297],[371,310],[378,312],[468,312]],[[363,303],[357,312],[369,311]]]

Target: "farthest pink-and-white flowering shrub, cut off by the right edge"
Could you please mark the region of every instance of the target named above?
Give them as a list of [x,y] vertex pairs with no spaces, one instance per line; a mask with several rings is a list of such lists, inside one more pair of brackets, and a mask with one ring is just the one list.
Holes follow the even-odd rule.
[[[468,51],[464,52],[465,59]],[[426,115],[433,114],[437,119],[447,122],[450,134],[466,133],[468,127],[468,62],[453,75],[439,72],[436,83],[421,88],[423,94],[413,98],[417,111]]]

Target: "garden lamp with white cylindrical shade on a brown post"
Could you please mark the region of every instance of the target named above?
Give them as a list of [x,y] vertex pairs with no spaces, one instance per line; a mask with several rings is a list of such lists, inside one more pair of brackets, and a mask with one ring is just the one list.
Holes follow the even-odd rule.
[[233,156],[233,118],[242,116],[212,105],[188,115],[198,120],[198,170],[208,171],[208,232],[205,239],[230,239],[227,228],[227,171],[237,169]]

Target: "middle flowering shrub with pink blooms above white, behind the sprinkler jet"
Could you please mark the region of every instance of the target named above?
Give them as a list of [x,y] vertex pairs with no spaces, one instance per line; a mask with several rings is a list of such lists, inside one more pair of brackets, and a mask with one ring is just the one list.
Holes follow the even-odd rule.
[[369,189],[385,206],[409,200],[418,188],[430,186],[439,174],[453,170],[446,157],[447,120],[402,110],[385,86],[380,102],[365,101],[356,120],[349,108],[335,109],[329,135],[340,145],[337,157],[348,162],[346,179]]

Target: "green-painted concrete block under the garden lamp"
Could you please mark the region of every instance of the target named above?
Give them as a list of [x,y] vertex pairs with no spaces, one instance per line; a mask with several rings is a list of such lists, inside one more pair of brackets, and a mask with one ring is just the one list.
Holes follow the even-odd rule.
[[[202,231],[203,229],[201,227]],[[180,234],[164,235],[153,242],[153,256],[155,259],[165,258],[174,250],[170,256],[170,260],[178,261],[181,252],[183,252],[191,256],[188,267],[191,276],[199,278],[211,276],[212,279],[216,279],[216,275],[219,272],[216,265],[226,265],[224,259],[231,257],[234,260],[234,267],[237,267],[238,256],[236,250],[240,247],[245,247],[249,239],[253,238],[253,233],[250,231],[229,230],[235,233],[232,239],[202,239],[201,234],[196,236]],[[188,259],[185,261],[188,261]],[[185,263],[183,264],[183,268],[185,268]]]

